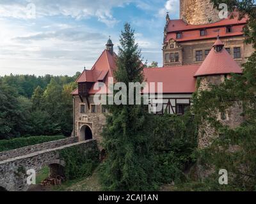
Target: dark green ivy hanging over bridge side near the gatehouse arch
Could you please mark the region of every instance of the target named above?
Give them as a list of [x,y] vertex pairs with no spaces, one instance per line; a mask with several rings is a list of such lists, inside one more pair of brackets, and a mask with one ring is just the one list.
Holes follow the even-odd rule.
[[99,165],[99,149],[93,141],[88,148],[81,146],[69,147],[60,151],[60,157],[65,161],[65,177],[68,180],[79,179],[92,175]]

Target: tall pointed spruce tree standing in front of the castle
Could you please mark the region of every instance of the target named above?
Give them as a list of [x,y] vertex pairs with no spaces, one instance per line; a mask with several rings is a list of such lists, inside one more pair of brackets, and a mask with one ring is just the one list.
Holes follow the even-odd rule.
[[[143,82],[143,64],[134,30],[124,25],[118,47],[117,82]],[[111,105],[102,136],[107,159],[101,166],[102,186],[110,191],[154,190],[155,176],[150,124],[143,105]]]

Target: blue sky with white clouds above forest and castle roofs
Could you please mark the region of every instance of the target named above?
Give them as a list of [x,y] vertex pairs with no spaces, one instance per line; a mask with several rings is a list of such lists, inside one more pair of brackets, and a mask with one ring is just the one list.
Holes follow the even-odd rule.
[[0,76],[90,69],[109,36],[118,52],[125,22],[143,59],[162,66],[166,11],[179,18],[179,0],[0,0]]

